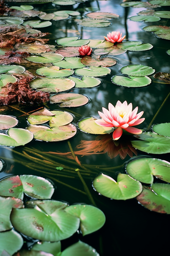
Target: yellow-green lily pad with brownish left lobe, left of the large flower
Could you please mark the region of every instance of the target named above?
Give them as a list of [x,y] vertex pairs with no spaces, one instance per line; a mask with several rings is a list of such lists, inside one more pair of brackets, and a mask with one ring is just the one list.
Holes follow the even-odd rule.
[[49,121],[50,127],[62,126],[70,123],[73,120],[73,116],[66,111],[51,111],[53,116],[46,115],[29,115],[27,121],[30,124],[42,124]]

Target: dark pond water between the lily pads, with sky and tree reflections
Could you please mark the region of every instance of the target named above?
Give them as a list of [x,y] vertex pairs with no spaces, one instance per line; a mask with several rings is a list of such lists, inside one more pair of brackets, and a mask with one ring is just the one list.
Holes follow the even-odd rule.
[[[11,3],[7,2],[10,6]],[[33,4],[33,3],[32,3]],[[139,88],[126,88],[117,86],[111,83],[113,75],[120,75],[119,68],[129,64],[142,64],[155,69],[155,72],[169,73],[169,55],[166,51],[169,49],[169,40],[156,38],[154,34],[142,30],[145,26],[161,25],[169,26],[168,19],[161,19],[155,23],[142,23],[133,22],[128,18],[135,16],[138,12],[145,10],[144,8],[123,8],[120,6],[121,1],[86,1],[84,3],[77,3],[73,6],[56,6],[52,3],[43,5],[34,5],[34,10],[51,13],[60,10],[79,11],[82,16],[91,11],[110,12],[119,15],[118,19],[113,19],[111,26],[105,28],[88,28],[80,27],[73,18],[63,21],[53,21],[52,25],[47,28],[41,28],[42,32],[51,33],[47,38],[49,44],[56,45],[57,38],[80,36],[82,39],[103,39],[108,32],[120,31],[122,35],[126,35],[128,41],[142,41],[143,43],[150,43],[153,48],[148,51],[127,52],[122,55],[115,56],[117,63],[115,66],[110,67],[111,74],[102,77],[102,84],[95,88],[90,89],[73,89],[71,92],[80,93],[88,96],[90,102],[81,107],[75,108],[59,108],[57,104],[13,104],[7,107],[0,106],[0,113],[15,116],[19,120],[19,127],[25,128],[27,126],[26,117],[22,115],[24,112],[36,110],[40,107],[46,107],[49,110],[66,110],[71,112],[74,116],[74,123],[80,118],[96,117],[98,118],[97,111],[101,111],[102,106],[107,108],[108,103],[116,104],[117,100],[123,102],[126,100],[128,103],[132,102],[133,108],[138,106],[138,111],[144,111],[143,117],[145,120],[139,125],[139,129],[148,130],[151,124],[169,122],[169,103],[170,98],[166,96],[169,93],[169,85],[163,81],[155,79],[150,76],[152,82],[150,85]],[[13,3],[12,3],[13,5]],[[17,3],[17,5],[19,5]],[[156,10],[169,10],[169,7],[161,7]],[[164,102],[162,108],[161,104]],[[160,111],[156,114],[156,112]],[[22,116],[21,116],[22,115]],[[153,120],[153,117],[154,120]],[[86,141],[92,144],[96,138],[95,135],[84,134],[78,131],[77,135],[69,140],[73,151],[77,151],[77,145],[80,142]],[[122,137],[124,141],[126,137]],[[132,137],[129,138],[133,140]],[[48,178],[54,182],[57,189],[53,195],[53,199],[66,201],[69,204],[73,203],[86,203],[92,204],[88,195],[82,194],[75,189],[84,191],[82,182],[78,175],[72,174],[72,178],[59,176],[58,172],[52,174],[39,164],[39,168],[34,168],[34,162],[30,157],[25,158],[23,154],[26,152],[29,156],[36,157],[31,152],[70,152],[67,141],[58,143],[47,143],[40,141],[32,141],[25,146],[16,148],[0,148],[0,158],[5,161],[6,168],[0,173],[0,178],[9,174],[33,174],[44,178]],[[89,148],[86,146],[85,151],[88,153]],[[144,152],[137,151],[137,156],[148,155]],[[50,157],[59,157],[59,155],[52,155]],[[93,172],[89,176],[83,175],[83,179],[90,191],[90,195],[95,202],[95,205],[101,209],[106,217],[104,226],[89,235],[83,236],[81,234],[74,234],[71,238],[62,241],[62,248],[76,242],[78,239],[84,241],[94,247],[100,256],[106,255],[125,255],[125,254],[153,254],[161,251],[165,255],[168,250],[168,223],[169,216],[161,214],[141,206],[137,200],[110,200],[104,196],[98,195],[92,188],[92,180],[100,172],[111,176],[116,179],[119,172],[125,173],[124,164],[130,159],[127,155],[121,159],[119,154],[110,158],[107,153],[94,154],[91,153],[87,156],[76,155],[82,166]],[[134,156],[134,154],[133,154]],[[163,155],[149,155],[153,158],[159,158],[169,161],[169,153]],[[63,155],[62,155],[63,157]],[[38,157],[37,157],[38,158]],[[65,160],[69,160],[65,156]],[[56,159],[58,163],[64,163],[64,158]],[[72,164],[71,164],[72,162]],[[25,164],[26,163],[26,164]],[[39,162],[40,163],[40,162]],[[69,163],[65,162],[70,168],[75,169],[74,160]],[[77,166],[79,167],[79,166]],[[36,169],[36,170],[35,170]],[[70,173],[65,173],[70,175]],[[68,187],[71,186],[72,188]]]

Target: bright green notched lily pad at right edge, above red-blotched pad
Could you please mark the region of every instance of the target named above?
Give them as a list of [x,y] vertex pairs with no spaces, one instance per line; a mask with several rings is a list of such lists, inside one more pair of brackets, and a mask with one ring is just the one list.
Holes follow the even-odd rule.
[[151,184],[153,176],[170,182],[170,163],[155,158],[140,158],[126,165],[126,172],[135,180]]

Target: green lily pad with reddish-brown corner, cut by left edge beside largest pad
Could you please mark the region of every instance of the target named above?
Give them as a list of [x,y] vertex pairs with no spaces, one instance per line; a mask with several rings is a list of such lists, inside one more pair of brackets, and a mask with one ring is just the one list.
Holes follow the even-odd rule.
[[22,200],[15,197],[0,196],[0,232],[12,228],[10,222],[10,213],[12,208],[23,208]]

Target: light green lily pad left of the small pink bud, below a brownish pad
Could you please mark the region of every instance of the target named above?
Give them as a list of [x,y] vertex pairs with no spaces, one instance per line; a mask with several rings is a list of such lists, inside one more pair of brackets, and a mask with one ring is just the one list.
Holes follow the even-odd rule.
[[63,56],[56,53],[41,53],[40,56],[35,55],[26,57],[25,59],[35,63],[52,63],[61,61],[63,59]]

